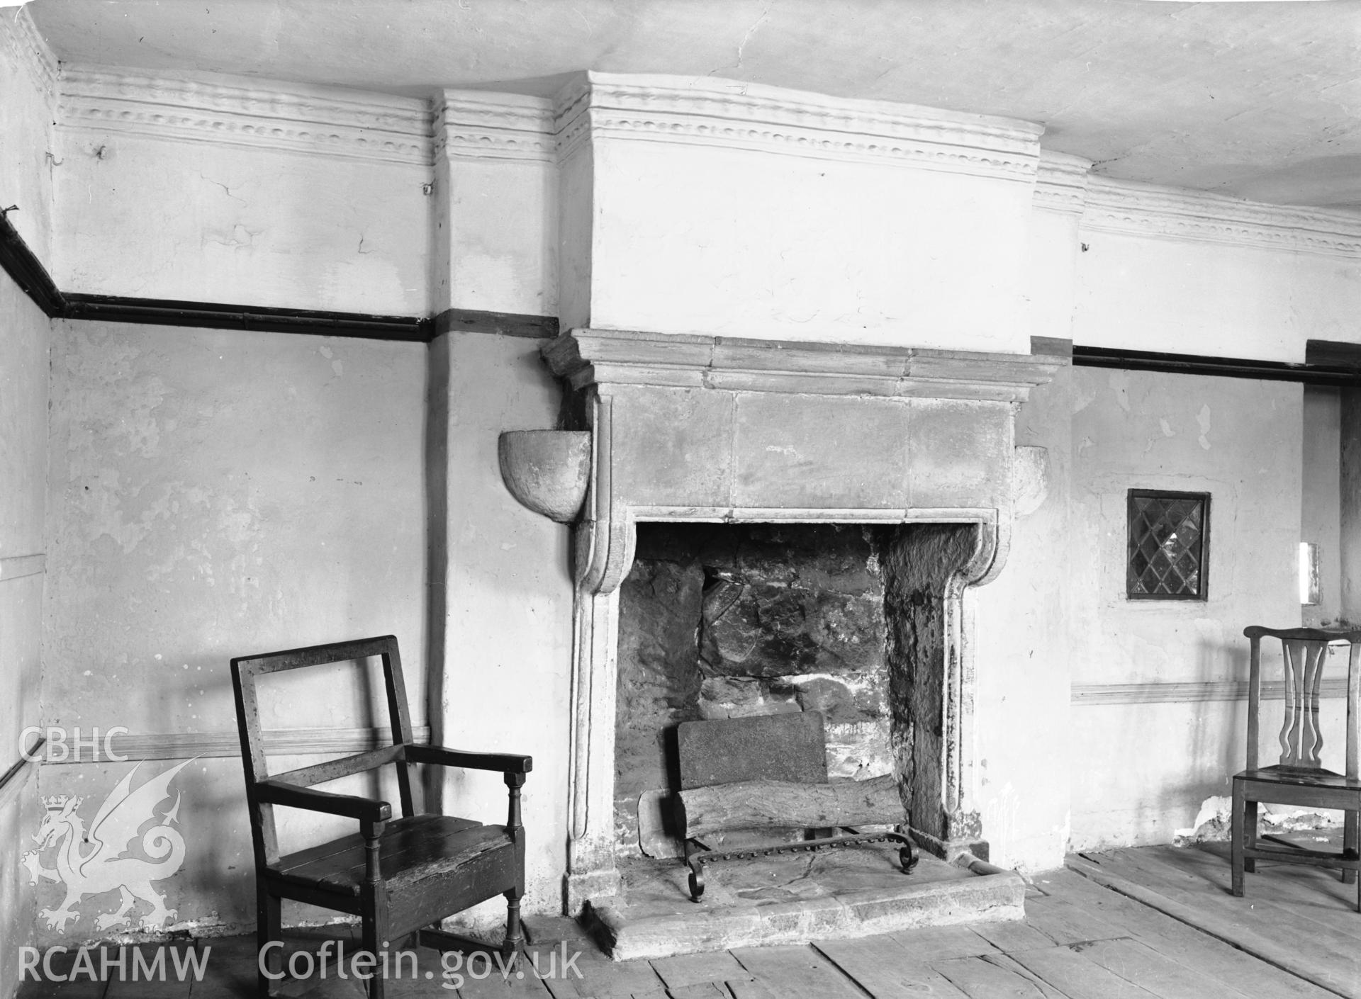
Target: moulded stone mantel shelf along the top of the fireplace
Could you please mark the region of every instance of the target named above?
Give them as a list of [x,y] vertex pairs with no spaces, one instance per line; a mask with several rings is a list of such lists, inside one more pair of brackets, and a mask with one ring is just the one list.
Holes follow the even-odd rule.
[[1023,402],[1063,361],[916,347],[750,340],[618,329],[573,329],[542,348],[573,388],[661,385],[736,392],[792,392]]

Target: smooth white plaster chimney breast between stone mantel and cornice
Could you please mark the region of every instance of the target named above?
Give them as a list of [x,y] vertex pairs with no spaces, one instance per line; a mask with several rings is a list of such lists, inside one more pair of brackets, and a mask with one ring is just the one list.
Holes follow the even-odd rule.
[[[897,163],[595,139],[565,324],[1028,350],[1030,185]],[[583,231],[588,230],[588,231]],[[587,244],[587,245],[583,245]],[[583,289],[589,283],[589,289]]]

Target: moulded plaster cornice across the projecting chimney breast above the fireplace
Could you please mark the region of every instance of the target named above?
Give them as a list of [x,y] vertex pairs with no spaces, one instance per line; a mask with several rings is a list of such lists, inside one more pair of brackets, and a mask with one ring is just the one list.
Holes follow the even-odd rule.
[[588,136],[901,163],[1030,182],[1040,125],[736,80],[588,72],[558,94],[559,157]]

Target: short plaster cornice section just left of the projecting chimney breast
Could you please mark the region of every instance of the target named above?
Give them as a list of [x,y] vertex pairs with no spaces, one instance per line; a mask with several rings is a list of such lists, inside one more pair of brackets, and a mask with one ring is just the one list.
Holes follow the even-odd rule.
[[436,155],[557,161],[553,101],[446,90],[434,112]]

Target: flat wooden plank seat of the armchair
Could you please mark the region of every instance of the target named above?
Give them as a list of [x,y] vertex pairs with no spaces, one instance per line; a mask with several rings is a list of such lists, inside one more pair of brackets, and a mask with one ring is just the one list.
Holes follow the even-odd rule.
[[[412,815],[393,819],[382,830],[378,866],[388,890],[396,893],[497,851],[514,852],[505,826],[453,815]],[[363,837],[354,833],[287,853],[269,870],[289,881],[358,896],[365,872]]]

